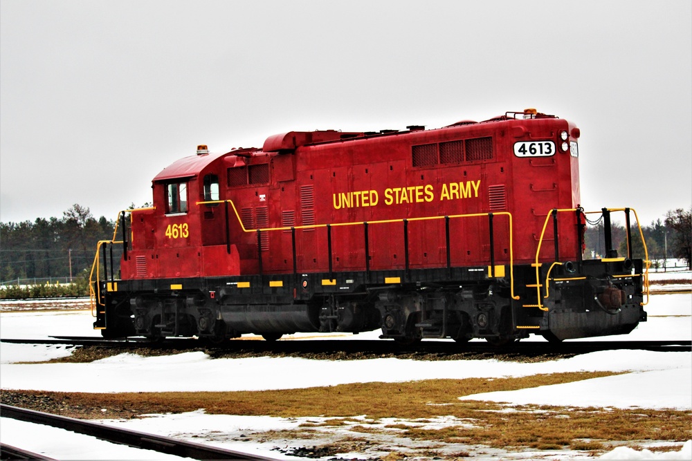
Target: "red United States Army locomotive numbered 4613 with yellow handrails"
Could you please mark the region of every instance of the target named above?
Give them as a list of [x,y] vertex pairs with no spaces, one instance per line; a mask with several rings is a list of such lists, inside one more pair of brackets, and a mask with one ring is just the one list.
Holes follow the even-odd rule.
[[[608,253],[582,257],[579,135],[527,109],[199,146],[100,243],[94,328],[214,341],[380,328],[407,344],[628,333],[646,321],[648,261],[612,249],[605,208]],[[617,211],[631,248],[630,209]],[[106,248],[120,245],[116,277]]]

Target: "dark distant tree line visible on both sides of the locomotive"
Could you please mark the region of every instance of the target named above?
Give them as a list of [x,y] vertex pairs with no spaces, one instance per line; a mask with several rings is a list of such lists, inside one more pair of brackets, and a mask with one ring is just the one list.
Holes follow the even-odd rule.
[[[0,223],[0,282],[30,283],[35,279],[44,283],[46,279],[69,281],[70,277],[88,276],[97,242],[110,240],[115,224],[104,216],[94,218],[88,207],[78,204],[64,211],[62,218]],[[667,256],[682,259],[692,268],[692,207],[670,210],[642,226],[642,232],[654,265],[662,265]],[[612,243],[619,256],[627,255],[624,225],[612,223]],[[588,225],[585,247],[585,258],[605,256],[602,219]],[[634,257],[644,258],[644,245],[634,224],[632,252]],[[113,256],[118,261],[120,254]]]

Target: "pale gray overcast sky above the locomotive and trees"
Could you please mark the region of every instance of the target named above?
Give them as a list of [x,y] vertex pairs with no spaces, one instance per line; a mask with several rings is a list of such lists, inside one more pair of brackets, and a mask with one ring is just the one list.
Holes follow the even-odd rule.
[[535,107],[582,205],[692,203],[692,3],[0,1],[0,220],[116,218],[194,153]]

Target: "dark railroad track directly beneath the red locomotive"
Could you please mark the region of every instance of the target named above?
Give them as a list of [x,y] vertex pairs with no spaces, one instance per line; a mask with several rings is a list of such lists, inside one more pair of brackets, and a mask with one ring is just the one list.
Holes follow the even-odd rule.
[[[458,355],[466,353],[486,355],[565,355],[583,354],[601,350],[653,350],[660,352],[686,352],[692,350],[692,341],[563,341],[549,343],[547,341],[525,341],[508,344],[507,346],[492,346],[484,341],[471,341],[457,344],[453,341],[422,341],[412,346],[401,346],[394,341],[370,339],[300,339],[276,342],[231,340],[224,344],[210,345],[199,339],[170,338],[161,342],[151,342],[147,339],[100,339],[98,337],[51,337],[51,339],[0,339],[0,342],[12,344],[46,344],[65,346],[93,346],[98,348],[135,349],[151,348],[156,350],[208,350],[212,355],[233,357],[234,353],[253,353],[257,355],[334,355],[348,359],[349,355]],[[332,357],[325,357],[332,358]]]

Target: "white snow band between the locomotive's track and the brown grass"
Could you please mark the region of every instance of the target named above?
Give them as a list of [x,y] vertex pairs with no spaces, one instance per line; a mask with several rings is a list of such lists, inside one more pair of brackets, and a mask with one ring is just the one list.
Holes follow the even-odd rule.
[[[6,361],[6,359],[3,359]],[[185,370],[184,374],[180,370]],[[184,352],[163,357],[140,357],[129,353],[89,364],[0,364],[0,385],[10,389],[75,392],[163,391],[259,391],[354,382],[406,382],[417,379],[464,379],[468,377],[520,377],[538,373],[570,371],[633,371],[628,375],[632,395],[618,393],[605,398],[606,406],[692,408],[692,355],[690,352],[613,350],[592,352],[570,359],[521,364],[490,360],[418,361],[367,359],[317,361],[297,357],[249,357],[210,359],[204,352]],[[651,375],[666,379],[668,399],[651,399]],[[687,379],[685,379],[685,377]],[[603,388],[618,383],[602,378]],[[653,395],[660,392],[656,390]],[[516,392],[516,391],[515,391]],[[538,393],[540,395],[540,393]],[[560,395],[556,391],[556,398]],[[590,393],[588,393],[590,395]],[[674,397],[677,396],[677,397]],[[576,393],[562,395],[561,405],[570,405]],[[594,397],[605,396],[597,393]],[[623,398],[626,397],[626,398]],[[684,397],[684,398],[682,398]],[[581,397],[576,406],[582,406]],[[540,398],[538,402],[544,403]],[[511,401],[503,398],[502,401]],[[547,402],[545,402],[547,403]],[[588,405],[591,405],[589,403]]]

